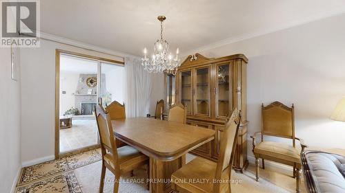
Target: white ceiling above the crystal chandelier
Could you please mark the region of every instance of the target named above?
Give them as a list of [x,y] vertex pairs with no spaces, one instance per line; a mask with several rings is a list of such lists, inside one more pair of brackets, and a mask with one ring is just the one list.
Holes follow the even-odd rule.
[[344,0],[44,0],[41,31],[141,56],[159,38],[161,14],[170,48],[186,53],[343,12]]

